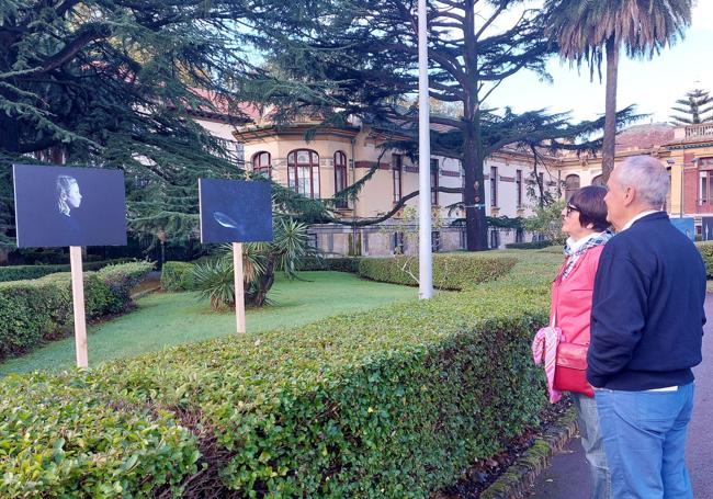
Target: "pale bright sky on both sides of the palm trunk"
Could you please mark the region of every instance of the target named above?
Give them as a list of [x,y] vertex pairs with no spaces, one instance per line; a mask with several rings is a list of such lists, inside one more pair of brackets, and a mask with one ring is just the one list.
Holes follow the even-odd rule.
[[[636,104],[636,111],[650,114],[640,123],[667,122],[677,99],[693,89],[713,93],[713,0],[699,0],[693,9],[691,26],[684,39],[667,47],[648,60],[632,60],[622,53],[619,65],[618,107]],[[531,71],[508,78],[488,102],[489,107],[510,105],[516,112],[548,109],[570,111],[576,121],[593,120],[604,112],[604,82],[589,79],[589,69],[581,73],[569,63],[553,59],[548,70],[553,83],[542,82]],[[602,66],[603,71],[603,66]]]

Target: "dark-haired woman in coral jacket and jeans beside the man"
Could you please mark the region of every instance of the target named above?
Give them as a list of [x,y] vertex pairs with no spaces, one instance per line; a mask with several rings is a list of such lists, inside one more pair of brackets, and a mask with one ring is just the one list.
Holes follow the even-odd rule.
[[[607,241],[607,189],[590,185],[575,192],[562,211],[562,230],[569,236],[565,262],[552,283],[550,316],[566,341],[589,344],[591,296],[599,257]],[[599,431],[597,404],[584,394],[570,394],[577,410],[581,445],[592,479],[592,499],[609,499],[610,477],[603,441]]]

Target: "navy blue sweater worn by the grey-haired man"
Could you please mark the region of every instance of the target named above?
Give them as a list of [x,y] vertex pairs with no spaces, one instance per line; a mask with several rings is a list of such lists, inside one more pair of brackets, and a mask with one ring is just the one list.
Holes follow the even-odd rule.
[[614,236],[595,279],[589,383],[637,392],[692,382],[704,299],[703,260],[666,213]]

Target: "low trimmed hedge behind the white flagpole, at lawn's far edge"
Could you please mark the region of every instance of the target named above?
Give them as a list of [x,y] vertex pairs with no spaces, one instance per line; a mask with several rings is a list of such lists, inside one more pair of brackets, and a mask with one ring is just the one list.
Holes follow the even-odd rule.
[[[517,260],[511,257],[484,257],[474,253],[438,253],[433,256],[433,287],[464,290],[508,273]],[[373,281],[417,286],[418,258],[362,258],[359,275]]]

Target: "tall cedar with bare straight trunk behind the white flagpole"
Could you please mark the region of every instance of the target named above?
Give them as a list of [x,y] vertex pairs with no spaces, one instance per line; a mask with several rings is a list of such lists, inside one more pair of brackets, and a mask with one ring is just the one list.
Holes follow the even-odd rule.
[[[432,115],[431,123],[451,132],[432,134],[432,151],[461,159],[465,173],[463,207],[466,214],[467,249],[485,250],[484,161],[505,147],[528,151],[591,149],[600,140],[586,140],[601,129],[603,120],[573,125],[566,114],[533,111],[494,113],[486,101],[508,77],[529,69],[548,79],[545,60],[556,50],[545,37],[545,16],[521,9],[519,0],[432,0],[428,3],[430,97],[460,103],[462,116]],[[274,66],[293,78],[330,80],[330,97],[342,102],[342,115],[358,114],[382,128],[415,131],[417,111],[404,109],[408,95],[418,90],[416,0],[363,0],[341,3],[325,16],[321,31],[292,32],[301,49],[279,47]],[[513,16],[513,11],[520,15]],[[497,26],[497,27],[496,27]],[[632,118],[625,110],[620,120]],[[585,139],[577,144],[577,140]],[[369,175],[366,177],[369,178]],[[363,182],[352,186],[363,186]],[[439,188],[444,192],[460,192]],[[383,217],[384,220],[417,195],[410,193]]]

